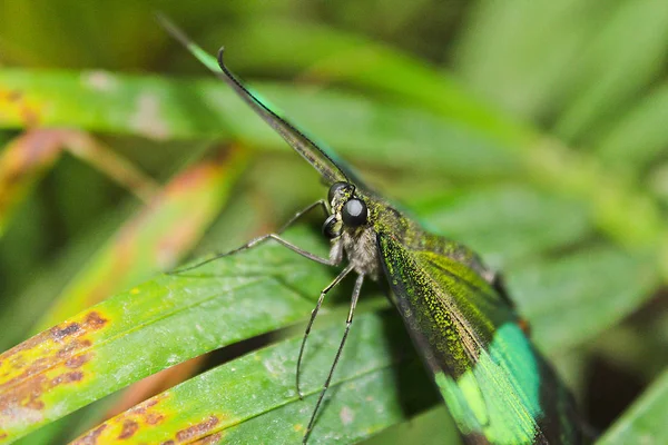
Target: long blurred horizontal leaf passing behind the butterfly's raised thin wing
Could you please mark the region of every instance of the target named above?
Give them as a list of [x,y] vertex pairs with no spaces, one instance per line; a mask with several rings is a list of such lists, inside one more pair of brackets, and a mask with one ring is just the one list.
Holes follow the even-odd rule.
[[[256,89],[318,140],[362,161],[413,169],[433,166],[434,171],[455,177],[508,176],[518,168],[513,156],[497,142],[423,110],[335,91],[314,93],[268,85]],[[234,91],[215,80],[0,70],[2,90],[20,95],[21,105],[9,103],[0,113],[0,128],[24,126],[23,108],[29,107],[41,125],[157,139],[235,137],[255,147],[285,150],[283,140],[243,107]],[[89,112],[78,103],[97,111]]]

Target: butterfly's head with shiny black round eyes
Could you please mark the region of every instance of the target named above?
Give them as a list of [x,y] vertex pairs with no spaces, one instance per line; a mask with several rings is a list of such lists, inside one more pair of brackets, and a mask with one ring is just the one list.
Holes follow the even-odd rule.
[[369,209],[366,202],[355,195],[355,186],[350,182],[334,182],[327,194],[332,214],[323,224],[323,234],[334,239],[344,229],[356,229],[366,225]]

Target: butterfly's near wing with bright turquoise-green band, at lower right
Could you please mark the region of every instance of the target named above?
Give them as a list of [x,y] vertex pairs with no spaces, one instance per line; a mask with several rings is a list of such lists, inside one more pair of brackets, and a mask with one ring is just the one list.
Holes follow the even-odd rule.
[[424,234],[410,247],[379,233],[385,275],[405,325],[470,443],[577,444],[569,392],[519,325],[507,298]]

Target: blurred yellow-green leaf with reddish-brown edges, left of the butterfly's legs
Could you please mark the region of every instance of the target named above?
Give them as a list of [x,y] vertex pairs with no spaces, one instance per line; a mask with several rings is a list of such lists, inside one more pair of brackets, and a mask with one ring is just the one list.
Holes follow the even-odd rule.
[[173,268],[226,202],[247,159],[247,151],[233,147],[219,159],[191,166],[174,178],[69,283],[37,330],[140,283],[156,270]]

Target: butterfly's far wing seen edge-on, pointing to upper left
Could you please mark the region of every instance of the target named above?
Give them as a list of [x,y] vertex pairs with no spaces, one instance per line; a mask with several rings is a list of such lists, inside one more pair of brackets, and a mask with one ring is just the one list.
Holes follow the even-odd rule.
[[275,107],[271,107],[268,101],[261,99],[261,96],[244,86],[244,83],[225,66],[223,62],[223,49],[218,52],[216,60],[195,42],[193,42],[180,29],[163,16],[158,20],[165,29],[174,36],[184,47],[193,53],[204,66],[214,75],[229,85],[234,91],[265,121],[267,122],[285,141],[295,149],[304,159],[306,159],[328,184],[338,181],[353,182],[362,186],[360,178],[353,170],[346,166],[336,155],[330,150],[316,145],[312,138],[279,116]]

